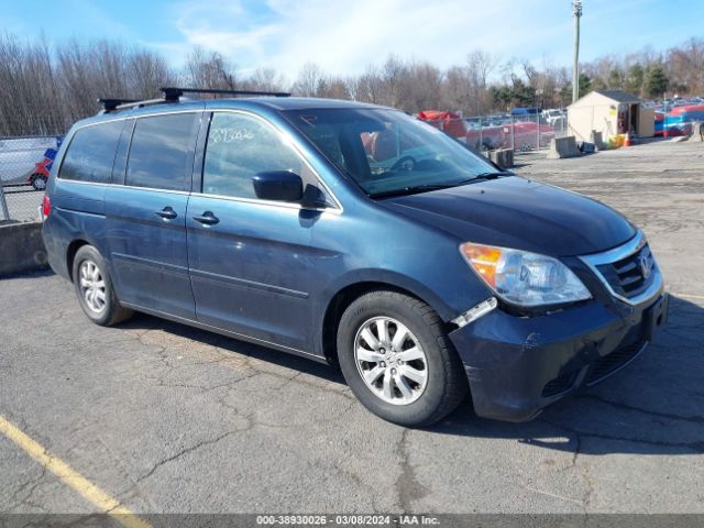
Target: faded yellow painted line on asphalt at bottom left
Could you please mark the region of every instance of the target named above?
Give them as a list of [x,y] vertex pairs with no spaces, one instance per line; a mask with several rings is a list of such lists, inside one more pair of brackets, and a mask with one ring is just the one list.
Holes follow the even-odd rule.
[[148,522],[141,519],[130,509],[120,504],[117,498],[111,497],[98,486],[89,482],[66,462],[53,454],[50,454],[45,448],[6,420],[2,415],[0,415],[0,432],[12,440],[36,462],[58,476],[64,484],[72,487],[86,501],[92,503],[101,512],[113,516],[122,526],[127,528],[151,528]]

